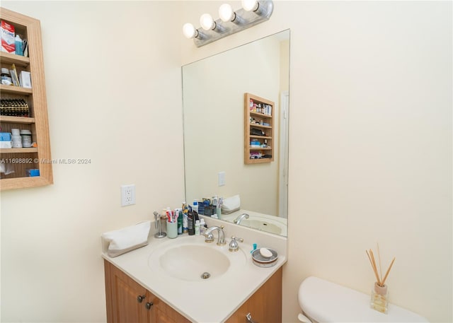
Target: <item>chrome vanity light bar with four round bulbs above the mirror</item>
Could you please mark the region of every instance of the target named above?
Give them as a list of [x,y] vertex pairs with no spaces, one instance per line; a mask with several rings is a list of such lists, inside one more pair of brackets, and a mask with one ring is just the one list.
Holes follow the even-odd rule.
[[195,45],[201,47],[269,20],[273,10],[272,0],[242,0],[242,8],[236,11],[229,4],[222,4],[219,19],[214,20],[209,13],[204,13],[200,17],[201,28],[185,23],[183,34],[193,38]]

